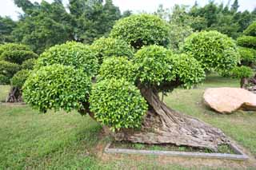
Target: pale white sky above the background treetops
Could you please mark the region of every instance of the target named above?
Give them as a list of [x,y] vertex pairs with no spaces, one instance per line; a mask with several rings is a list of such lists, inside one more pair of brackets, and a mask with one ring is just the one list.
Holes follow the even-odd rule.
[[[30,0],[30,2],[41,2],[42,0]],[[46,0],[47,2],[52,2],[53,0]],[[139,11],[146,11],[152,13],[157,10],[158,6],[162,4],[165,8],[171,8],[174,4],[183,4],[193,6],[195,0],[113,0],[114,5],[118,6],[121,11],[133,10],[135,13]],[[62,0],[62,2],[67,4],[68,0]],[[200,6],[204,6],[209,0],[198,0]],[[215,0],[217,3],[223,2],[226,4],[229,0]],[[234,0],[230,0],[232,4]],[[238,0],[239,10],[254,10],[256,7],[256,0]],[[14,20],[18,19],[18,13],[22,10],[18,9],[14,5],[13,0],[0,0],[0,15],[10,16]]]

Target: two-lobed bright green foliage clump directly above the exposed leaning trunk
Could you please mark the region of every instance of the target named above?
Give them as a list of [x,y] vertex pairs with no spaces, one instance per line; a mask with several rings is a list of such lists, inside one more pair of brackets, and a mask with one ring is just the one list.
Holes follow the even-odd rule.
[[191,87],[205,78],[204,70],[194,57],[173,54],[169,49],[158,45],[145,46],[138,50],[134,63],[139,81],[160,88],[168,82]]

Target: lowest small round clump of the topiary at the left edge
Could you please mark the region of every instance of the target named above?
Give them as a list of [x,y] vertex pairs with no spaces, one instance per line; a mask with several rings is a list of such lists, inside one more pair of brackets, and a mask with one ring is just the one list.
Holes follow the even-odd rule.
[[27,77],[30,76],[30,70],[22,69],[14,74],[14,77],[10,79],[11,85],[14,87],[18,87],[22,89],[22,85],[24,85]]

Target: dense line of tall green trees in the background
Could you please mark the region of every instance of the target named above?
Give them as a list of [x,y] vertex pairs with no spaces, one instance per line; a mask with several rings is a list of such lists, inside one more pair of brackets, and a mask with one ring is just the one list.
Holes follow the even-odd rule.
[[[17,22],[0,17],[0,43],[18,42],[42,53],[52,45],[66,41],[92,43],[107,36],[114,22],[129,16],[131,11],[120,12],[112,0],[62,0],[54,2],[30,2],[14,0],[22,9]],[[238,38],[256,18],[253,11],[238,11],[238,0],[230,4],[210,1],[206,6],[174,6],[164,9],[159,6],[154,13],[170,23],[170,48],[179,49],[179,44],[193,31],[218,30],[231,38]]]

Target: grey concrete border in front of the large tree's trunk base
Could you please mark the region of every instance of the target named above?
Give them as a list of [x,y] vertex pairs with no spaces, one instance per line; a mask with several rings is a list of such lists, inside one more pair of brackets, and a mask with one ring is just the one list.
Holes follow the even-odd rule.
[[104,152],[106,152],[106,153],[123,153],[123,154],[140,154],[140,155],[155,155],[155,156],[183,156],[183,157],[215,158],[215,159],[226,159],[226,160],[248,160],[249,159],[249,156],[247,156],[245,153],[243,153],[235,144],[230,144],[230,147],[234,150],[234,152],[236,154],[110,148],[110,145],[111,145],[111,142],[106,145]]

